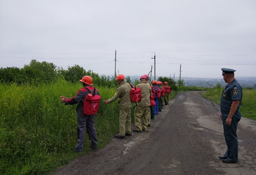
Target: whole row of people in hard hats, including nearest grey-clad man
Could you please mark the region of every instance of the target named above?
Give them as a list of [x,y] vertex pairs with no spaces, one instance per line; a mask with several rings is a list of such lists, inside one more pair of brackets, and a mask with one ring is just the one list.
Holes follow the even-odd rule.
[[[115,138],[124,139],[125,136],[132,135],[132,124],[131,124],[131,107],[132,102],[130,99],[130,90],[132,89],[131,85],[127,83],[124,75],[119,74],[116,77],[117,86],[115,95],[107,100],[104,100],[106,104],[113,103],[115,100],[119,99],[119,134],[114,135]],[[72,98],[61,98],[61,102],[65,105],[74,105],[78,103],[76,107],[77,115],[77,135],[78,143],[76,144],[73,151],[81,153],[83,151],[83,144],[85,141],[85,130],[89,135],[91,140],[91,147],[94,151],[97,151],[97,135],[95,129],[94,116],[86,115],[83,111],[83,101],[89,93],[95,93],[100,95],[99,91],[93,87],[92,77],[86,75],[80,82],[83,83],[83,88],[79,89],[76,95]],[[135,130],[133,132],[146,132],[147,127],[150,127],[150,119],[154,119],[155,115],[161,111],[164,105],[168,105],[169,94],[171,88],[168,86],[168,83],[165,82],[164,85],[162,82],[156,82],[154,80],[152,84],[150,83],[148,75],[143,75],[140,77],[140,83],[136,87],[141,88],[141,100],[136,103],[135,108]],[[85,89],[88,89],[85,90]],[[90,91],[90,92],[89,92]],[[159,96],[160,93],[160,96]],[[142,120],[142,123],[141,123]]]

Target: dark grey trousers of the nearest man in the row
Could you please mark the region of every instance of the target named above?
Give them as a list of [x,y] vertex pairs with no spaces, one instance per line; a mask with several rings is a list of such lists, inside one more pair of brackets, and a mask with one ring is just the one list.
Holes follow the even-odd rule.
[[92,148],[97,148],[98,140],[97,134],[94,126],[94,115],[77,115],[77,124],[78,124],[78,138],[79,141],[75,146],[75,149],[78,152],[83,151],[83,143],[85,142],[85,128],[87,129],[89,138],[91,140]]

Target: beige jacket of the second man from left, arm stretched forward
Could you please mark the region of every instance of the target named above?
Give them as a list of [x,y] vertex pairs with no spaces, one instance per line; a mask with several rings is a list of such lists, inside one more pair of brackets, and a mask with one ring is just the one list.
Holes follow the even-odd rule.
[[128,109],[132,107],[132,102],[130,98],[130,90],[132,87],[123,81],[119,86],[117,86],[116,94],[108,100],[108,103],[114,102],[119,98],[119,107],[120,109]]

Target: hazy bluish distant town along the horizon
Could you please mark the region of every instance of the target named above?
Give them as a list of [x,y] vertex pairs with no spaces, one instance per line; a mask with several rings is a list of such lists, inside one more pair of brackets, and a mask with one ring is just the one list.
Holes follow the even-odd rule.
[[[151,78],[153,80],[154,77]],[[159,76],[156,76],[158,79]],[[140,76],[130,76],[132,83],[135,82],[135,79],[139,80]],[[175,78],[177,82],[179,78]],[[215,87],[217,83],[220,83],[222,87],[225,87],[227,83],[224,82],[221,78],[188,78],[181,77],[184,79],[185,86],[197,86],[197,87]],[[236,77],[236,80],[241,84],[243,88],[251,87],[256,89],[256,77]]]

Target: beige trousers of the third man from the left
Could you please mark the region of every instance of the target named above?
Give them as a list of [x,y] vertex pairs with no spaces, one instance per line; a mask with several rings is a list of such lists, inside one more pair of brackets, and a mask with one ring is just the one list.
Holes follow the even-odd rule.
[[[149,106],[136,106],[134,118],[137,131],[147,131],[148,116],[150,115]],[[142,120],[142,125],[141,125]]]

